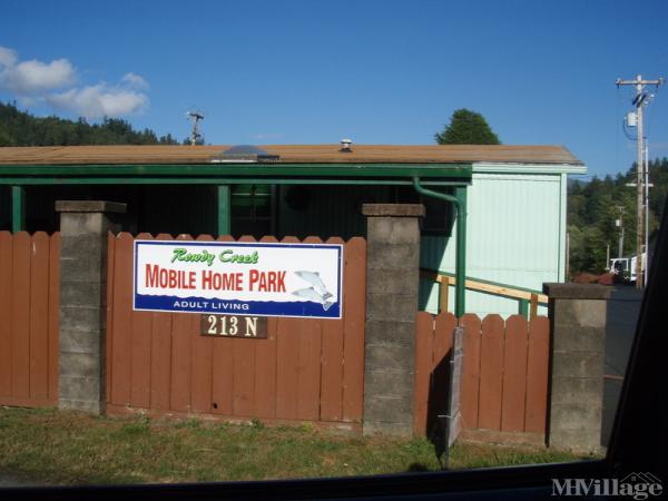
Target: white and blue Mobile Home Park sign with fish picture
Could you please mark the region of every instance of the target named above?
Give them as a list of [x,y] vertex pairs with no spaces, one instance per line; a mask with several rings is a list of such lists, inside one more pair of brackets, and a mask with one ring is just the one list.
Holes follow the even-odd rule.
[[343,246],[135,240],[136,311],[341,318]]

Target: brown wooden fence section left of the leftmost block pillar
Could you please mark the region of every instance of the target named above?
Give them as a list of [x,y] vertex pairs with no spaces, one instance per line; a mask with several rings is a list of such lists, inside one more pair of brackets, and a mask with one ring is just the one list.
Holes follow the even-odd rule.
[[58,402],[60,236],[0,232],[0,405]]

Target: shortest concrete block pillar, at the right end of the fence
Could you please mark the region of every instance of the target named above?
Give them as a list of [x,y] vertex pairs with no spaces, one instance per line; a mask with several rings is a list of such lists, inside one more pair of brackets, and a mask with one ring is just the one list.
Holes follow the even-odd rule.
[[552,330],[548,443],[601,449],[607,299],[602,285],[544,284]]

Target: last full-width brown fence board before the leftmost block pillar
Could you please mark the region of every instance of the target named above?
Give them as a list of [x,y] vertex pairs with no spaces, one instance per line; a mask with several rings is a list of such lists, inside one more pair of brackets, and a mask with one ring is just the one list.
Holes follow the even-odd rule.
[[30,256],[30,397],[49,397],[49,236],[32,236]]

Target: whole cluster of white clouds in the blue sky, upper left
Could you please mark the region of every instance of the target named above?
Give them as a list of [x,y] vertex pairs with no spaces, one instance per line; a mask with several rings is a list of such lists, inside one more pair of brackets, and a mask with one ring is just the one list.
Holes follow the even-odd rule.
[[[90,119],[140,112],[148,107],[148,82],[126,73],[120,82],[73,87],[77,70],[67,59],[19,61],[14,50],[0,46],[0,90],[30,106],[48,102],[53,108]],[[58,91],[60,90],[60,91]]]

